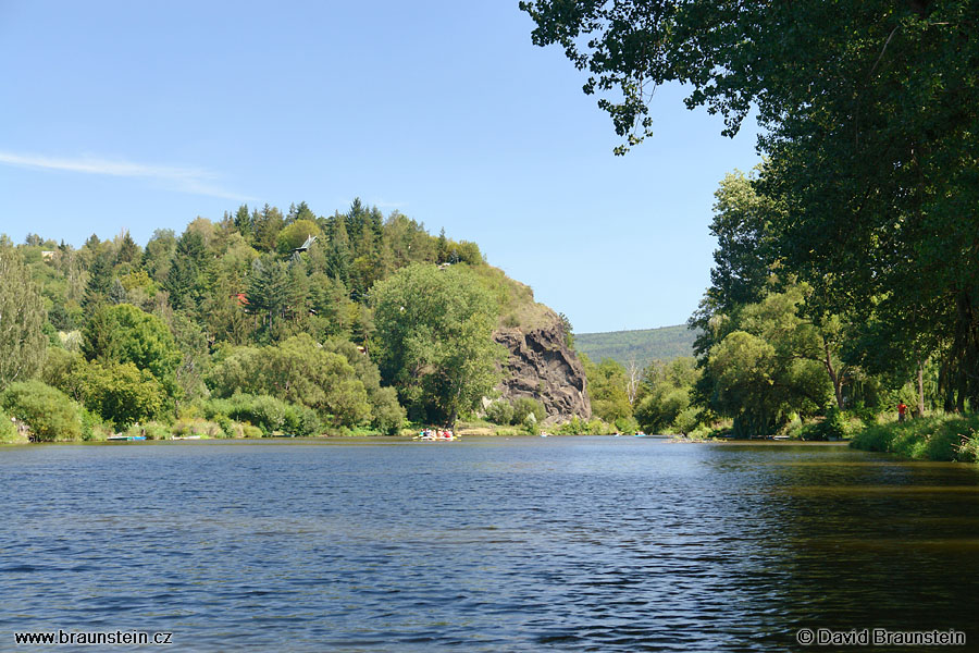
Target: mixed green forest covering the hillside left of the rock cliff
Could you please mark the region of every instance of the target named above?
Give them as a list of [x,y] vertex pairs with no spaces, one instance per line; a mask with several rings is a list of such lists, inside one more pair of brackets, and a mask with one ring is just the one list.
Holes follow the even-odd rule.
[[3,236],[0,280],[4,441],[451,424],[499,381],[492,331],[533,316],[475,244],[359,200],[241,206],[145,247]]

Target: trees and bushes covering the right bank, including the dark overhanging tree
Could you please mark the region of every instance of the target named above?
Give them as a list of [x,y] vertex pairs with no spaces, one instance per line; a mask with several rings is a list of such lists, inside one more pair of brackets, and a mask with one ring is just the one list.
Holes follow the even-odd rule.
[[[652,135],[665,82],[726,135],[753,109],[763,127],[764,162],[716,194],[696,360],[593,366],[599,415],[976,459],[975,0],[520,5],[536,45],[587,71],[616,153]],[[916,419],[897,423],[899,403]]]

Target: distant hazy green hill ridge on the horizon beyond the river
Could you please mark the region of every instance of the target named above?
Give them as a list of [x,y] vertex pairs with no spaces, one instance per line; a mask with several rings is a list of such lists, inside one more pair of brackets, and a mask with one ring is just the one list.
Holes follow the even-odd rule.
[[594,362],[611,358],[623,366],[635,360],[646,367],[653,360],[673,360],[681,356],[693,356],[696,332],[686,324],[640,329],[636,331],[608,331],[604,333],[575,333],[574,347],[587,355]]

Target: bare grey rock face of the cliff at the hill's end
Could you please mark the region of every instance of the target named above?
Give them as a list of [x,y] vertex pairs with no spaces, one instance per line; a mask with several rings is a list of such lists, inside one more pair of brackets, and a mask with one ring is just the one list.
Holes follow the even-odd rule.
[[572,417],[591,419],[584,367],[565,345],[565,330],[557,316],[548,326],[525,333],[520,329],[500,329],[493,338],[510,353],[505,380],[497,386],[504,398],[537,399],[547,409],[545,423]]

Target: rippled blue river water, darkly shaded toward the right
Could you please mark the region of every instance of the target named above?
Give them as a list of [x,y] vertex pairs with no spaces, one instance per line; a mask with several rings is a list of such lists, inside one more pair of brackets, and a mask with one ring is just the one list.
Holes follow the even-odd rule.
[[841,446],[36,445],[0,449],[0,651],[59,629],[181,651],[979,644],[979,468]]

